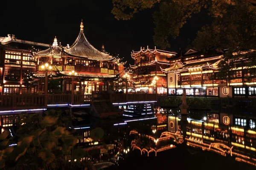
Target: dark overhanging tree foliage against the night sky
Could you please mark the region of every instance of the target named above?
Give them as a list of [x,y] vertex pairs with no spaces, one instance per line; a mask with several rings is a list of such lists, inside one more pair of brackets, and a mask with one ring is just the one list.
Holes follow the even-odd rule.
[[192,14],[202,8],[207,8],[213,22],[198,31],[193,42],[197,50],[233,51],[255,44],[256,7],[243,0],[113,0],[112,13],[118,20],[129,20],[140,10],[153,7],[154,43],[161,48],[169,47],[168,38],[177,37]]

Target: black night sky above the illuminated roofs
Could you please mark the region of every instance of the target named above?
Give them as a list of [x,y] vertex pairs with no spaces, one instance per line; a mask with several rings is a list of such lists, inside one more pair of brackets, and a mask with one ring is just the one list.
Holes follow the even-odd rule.
[[[9,1],[12,2],[12,1]],[[34,2],[15,1],[2,3],[0,37],[15,34],[21,40],[52,44],[54,37],[63,46],[72,45],[80,31],[81,19],[84,34],[97,49],[102,43],[111,54],[119,51],[123,61],[133,64],[131,51],[140,47],[154,48],[154,9],[136,14],[131,20],[116,20],[111,14],[112,0],[35,0]],[[180,36],[170,38],[168,51],[185,51],[187,40],[193,40],[197,30],[205,25],[207,13],[193,15],[180,30]]]

